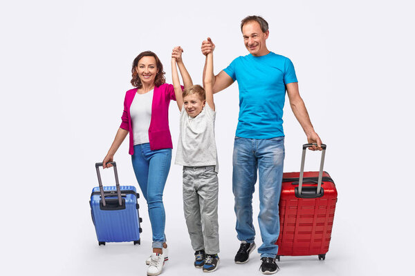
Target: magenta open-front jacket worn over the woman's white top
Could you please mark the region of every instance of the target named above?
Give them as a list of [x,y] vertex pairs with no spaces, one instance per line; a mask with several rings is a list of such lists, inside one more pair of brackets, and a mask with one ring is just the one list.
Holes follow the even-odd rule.
[[[183,86],[182,86],[183,90]],[[124,112],[122,112],[122,123],[120,128],[129,131],[129,154],[134,153],[133,128],[131,124],[130,107],[136,96],[137,88],[125,93]],[[162,148],[173,148],[172,135],[169,130],[169,103],[176,101],[174,87],[172,84],[164,83],[154,87],[153,103],[151,104],[151,121],[149,126],[149,141],[151,150]]]

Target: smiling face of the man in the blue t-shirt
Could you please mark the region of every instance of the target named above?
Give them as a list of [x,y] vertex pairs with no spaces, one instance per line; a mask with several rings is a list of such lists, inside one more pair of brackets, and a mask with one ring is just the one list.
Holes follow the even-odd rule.
[[267,55],[266,39],[270,32],[262,32],[257,21],[248,21],[242,26],[243,43],[248,51],[255,57]]

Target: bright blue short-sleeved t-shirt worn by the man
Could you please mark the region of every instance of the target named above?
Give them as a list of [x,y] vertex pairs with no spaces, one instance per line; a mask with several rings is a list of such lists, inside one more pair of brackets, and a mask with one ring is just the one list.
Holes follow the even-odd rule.
[[237,137],[269,139],[284,136],[282,108],[286,84],[297,82],[293,63],[273,52],[237,57],[225,68],[239,86]]

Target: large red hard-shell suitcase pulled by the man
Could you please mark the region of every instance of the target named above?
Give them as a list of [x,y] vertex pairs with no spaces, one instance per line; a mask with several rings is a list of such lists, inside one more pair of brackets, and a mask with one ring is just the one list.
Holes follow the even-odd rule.
[[318,255],[329,251],[337,190],[329,173],[323,171],[326,145],[322,144],[320,172],[304,172],[306,149],[303,145],[300,172],[284,172],[279,199],[279,256]]

